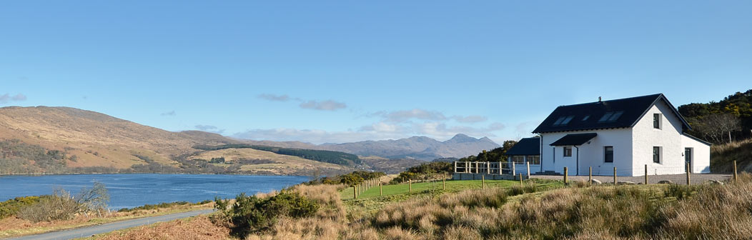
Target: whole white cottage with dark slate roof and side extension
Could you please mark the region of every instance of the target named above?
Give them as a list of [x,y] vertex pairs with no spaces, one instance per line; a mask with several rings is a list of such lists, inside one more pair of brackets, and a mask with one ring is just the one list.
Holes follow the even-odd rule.
[[642,176],[710,172],[710,144],[687,135],[690,125],[663,94],[565,105],[533,133],[540,135],[538,172]]

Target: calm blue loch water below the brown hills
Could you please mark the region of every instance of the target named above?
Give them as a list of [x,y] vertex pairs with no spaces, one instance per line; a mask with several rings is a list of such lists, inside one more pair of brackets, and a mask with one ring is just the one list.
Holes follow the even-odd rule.
[[105,184],[110,193],[112,209],[133,208],[160,202],[200,202],[221,198],[235,198],[280,190],[308,181],[304,176],[261,175],[44,175],[0,177],[0,202],[18,196],[39,196],[63,188],[78,193],[82,187],[92,187],[95,181]]

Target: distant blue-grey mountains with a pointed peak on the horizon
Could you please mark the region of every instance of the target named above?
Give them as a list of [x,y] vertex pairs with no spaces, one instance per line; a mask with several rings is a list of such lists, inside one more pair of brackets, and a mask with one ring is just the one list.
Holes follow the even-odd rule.
[[478,139],[464,134],[457,134],[447,141],[436,141],[433,138],[414,136],[399,140],[322,144],[318,147],[326,150],[353,153],[359,156],[432,160],[443,157],[469,156],[482,150],[491,150],[499,147],[499,144],[496,144],[496,142],[491,141],[489,138]]

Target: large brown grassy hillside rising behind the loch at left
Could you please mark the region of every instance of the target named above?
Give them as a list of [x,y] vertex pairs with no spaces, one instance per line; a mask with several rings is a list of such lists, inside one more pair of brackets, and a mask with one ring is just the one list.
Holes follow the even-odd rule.
[[[195,155],[211,156],[196,145],[242,144],[222,135],[169,132],[77,108],[0,108],[0,147],[3,173],[39,172],[202,172],[302,174],[291,164],[317,166],[311,172],[347,172],[348,168],[308,159],[276,156],[277,165],[259,170],[254,166],[209,166]],[[209,153],[207,153],[209,152]],[[247,157],[253,158],[248,154]],[[256,157],[259,158],[259,157]],[[305,162],[305,163],[304,163]],[[312,162],[312,163],[311,163]],[[253,165],[253,164],[248,164]],[[279,169],[275,169],[279,168]]]

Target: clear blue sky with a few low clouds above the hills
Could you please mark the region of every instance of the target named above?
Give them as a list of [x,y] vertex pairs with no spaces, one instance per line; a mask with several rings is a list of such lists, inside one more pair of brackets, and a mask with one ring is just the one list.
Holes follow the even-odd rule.
[[8,1],[0,105],[170,131],[516,139],[557,105],[752,88],[749,1]]

